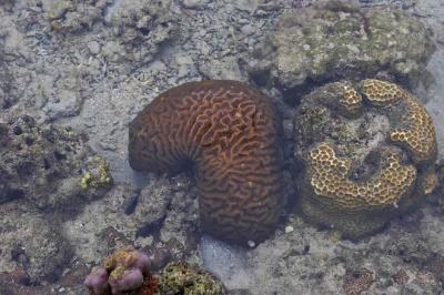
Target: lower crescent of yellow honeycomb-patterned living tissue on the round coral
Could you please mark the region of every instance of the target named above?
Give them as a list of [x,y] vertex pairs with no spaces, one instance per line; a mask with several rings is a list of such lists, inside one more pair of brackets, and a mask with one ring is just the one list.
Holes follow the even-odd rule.
[[415,184],[416,169],[402,165],[401,154],[383,152],[381,173],[371,180],[349,179],[350,159],[337,157],[333,148],[321,143],[309,155],[310,182],[316,197],[341,208],[363,210],[396,204]]

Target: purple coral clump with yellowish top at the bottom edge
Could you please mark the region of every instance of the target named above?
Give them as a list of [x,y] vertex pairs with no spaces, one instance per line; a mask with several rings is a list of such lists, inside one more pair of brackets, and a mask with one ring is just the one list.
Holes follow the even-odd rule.
[[91,295],[121,294],[143,285],[149,276],[151,260],[140,251],[122,248],[104,260],[103,266],[95,268],[84,279]]

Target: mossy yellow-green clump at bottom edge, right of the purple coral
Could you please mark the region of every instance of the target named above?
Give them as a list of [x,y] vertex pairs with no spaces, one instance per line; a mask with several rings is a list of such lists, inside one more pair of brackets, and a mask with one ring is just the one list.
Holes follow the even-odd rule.
[[160,273],[160,294],[223,295],[220,283],[209,272],[186,263],[170,263]]

